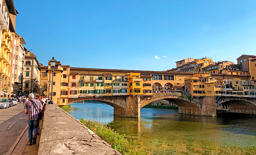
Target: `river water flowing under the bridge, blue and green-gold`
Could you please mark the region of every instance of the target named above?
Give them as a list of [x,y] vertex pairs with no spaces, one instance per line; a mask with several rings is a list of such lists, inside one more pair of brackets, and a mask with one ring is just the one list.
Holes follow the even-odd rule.
[[180,114],[178,110],[141,108],[140,118],[113,115],[104,103],[72,103],[76,119],[106,123],[153,155],[254,155],[256,115]]

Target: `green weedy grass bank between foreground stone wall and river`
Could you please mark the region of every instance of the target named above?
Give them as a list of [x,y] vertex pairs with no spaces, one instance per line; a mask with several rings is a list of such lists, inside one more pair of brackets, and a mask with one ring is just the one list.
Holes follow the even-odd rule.
[[117,150],[122,155],[148,155],[142,148],[138,148],[136,141],[127,140],[125,134],[120,135],[114,132],[114,129],[100,122],[93,122],[91,119],[84,120],[80,118],[80,122],[90,128],[91,131],[101,137],[102,140],[110,144],[113,149]]

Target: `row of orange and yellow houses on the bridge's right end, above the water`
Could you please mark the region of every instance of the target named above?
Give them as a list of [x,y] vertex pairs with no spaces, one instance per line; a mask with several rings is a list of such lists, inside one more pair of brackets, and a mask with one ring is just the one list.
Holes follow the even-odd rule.
[[245,79],[220,79],[210,74],[194,74],[185,79],[185,90],[193,96],[256,97],[256,84]]

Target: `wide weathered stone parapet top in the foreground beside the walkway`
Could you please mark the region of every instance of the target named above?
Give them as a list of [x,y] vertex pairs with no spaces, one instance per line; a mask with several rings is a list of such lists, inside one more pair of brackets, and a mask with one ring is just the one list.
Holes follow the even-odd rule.
[[38,155],[121,155],[55,104],[46,105]]

